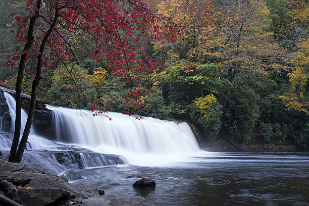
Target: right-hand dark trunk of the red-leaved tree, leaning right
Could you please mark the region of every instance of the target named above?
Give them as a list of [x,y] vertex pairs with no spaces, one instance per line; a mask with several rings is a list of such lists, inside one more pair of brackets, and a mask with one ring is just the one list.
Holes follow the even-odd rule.
[[44,53],[44,49],[45,49],[45,44],[46,44],[46,41],[47,41],[49,35],[52,33],[52,31],[53,31],[53,29],[56,25],[58,16],[59,16],[59,9],[57,7],[56,12],[55,12],[54,21],[53,21],[52,25],[50,25],[50,27],[49,27],[48,31],[46,32],[46,35],[44,36],[42,43],[40,45],[39,55],[37,57],[36,74],[35,74],[35,77],[32,81],[31,100],[30,100],[30,108],[29,108],[29,112],[28,112],[28,118],[27,118],[27,122],[26,122],[26,126],[25,126],[25,130],[24,130],[22,139],[19,143],[18,150],[17,150],[16,155],[15,155],[15,162],[18,162],[18,163],[21,162],[21,159],[22,159],[22,156],[23,156],[23,153],[24,153],[27,141],[28,141],[30,129],[31,129],[31,126],[32,126],[32,121],[33,121],[33,116],[34,116],[34,111],[35,111],[35,103],[36,103],[36,93],[37,93],[38,86],[40,84],[40,80],[42,78],[41,77],[41,68],[42,68],[42,57],[43,57],[43,53]]

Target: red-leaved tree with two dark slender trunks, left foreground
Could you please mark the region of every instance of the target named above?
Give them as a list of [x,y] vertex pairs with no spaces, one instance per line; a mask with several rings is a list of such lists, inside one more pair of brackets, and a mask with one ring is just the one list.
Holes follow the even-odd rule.
[[[77,98],[83,96],[83,88],[76,83],[73,73],[74,66],[79,65],[79,62],[73,52],[72,36],[84,36],[93,41],[95,47],[91,50],[91,57],[99,60],[102,53],[105,53],[111,73],[117,77],[127,77],[126,81],[130,82],[131,88],[123,98],[127,99],[128,107],[136,108],[140,106],[138,100],[142,91],[130,71],[151,71],[158,65],[142,52],[141,47],[146,47],[150,38],[162,41],[164,36],[164,40],[174,40],[177,33],[175,24],[170,24],[169,18],[153,14],[139,0],[29,0],[25,5],[25,14],[12,14],[11,17],[14,17],[18,25],[15,37],[26,42],[23,49],[17,47],[17,52],[8,56],[11,66],[20,59],[16,82],[15,131],[9,159],[11,162],[21,161],[28,140],[37,89],[42,81],[42,68],[60,61],[75,82],[79,91]],[[151,29],[152,36],[146,35],[148,29]],[[31,58],[35,62],[35,69],[31,68]],[[67,67],[67,62],[73,66]],[[31,70],[35,76],[28,119],[18,146],[21,83],[25,70]],[[91,111],[99,108],[93,104]]]

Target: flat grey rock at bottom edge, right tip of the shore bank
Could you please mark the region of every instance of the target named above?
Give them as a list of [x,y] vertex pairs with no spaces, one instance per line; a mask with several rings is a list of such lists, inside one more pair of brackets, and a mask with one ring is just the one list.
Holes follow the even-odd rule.
[[156,206],[155,204],[147,201],[144,197],[125,197],[112,199],[113,206]]

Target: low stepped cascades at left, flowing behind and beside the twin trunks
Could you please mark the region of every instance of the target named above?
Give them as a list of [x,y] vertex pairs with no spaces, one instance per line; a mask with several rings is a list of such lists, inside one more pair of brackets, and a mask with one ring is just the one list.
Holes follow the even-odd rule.
[[[0,149],[5,153],[9,152],[15,125],[15,98],[7,92],[4,95],[9,106],[11,121],[11,133],[0,131]],[[22,109],[21,114],[21,135],[27,121],[27,113]],[[6,151],[7,150],[7,151]],[[81,169],[87,167],[101,167],[108,165],[123,164],[122,159],[115,155],[103,155],[76,145],[67,145],[61,142],[50,141],[35,133],[32,127],[26,151],[23,156],[23,163],[28,166],[39,167],[54,174],[61,173],[64,169]]]

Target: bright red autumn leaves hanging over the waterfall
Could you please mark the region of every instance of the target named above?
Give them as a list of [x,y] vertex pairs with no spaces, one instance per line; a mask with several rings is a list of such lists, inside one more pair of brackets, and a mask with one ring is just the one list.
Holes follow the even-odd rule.
[[[53,65],[57,60],[77,62],[67,40],[68,33],[90,38],[96,45],[91,50],[91,57],[100,59],[105,53],[111,73],[117,77],[127,76],[126,81],[134,82],[128,94],[123,96],[130,113],[142,107],[139,98],[144,92],[137,79],[130,76],[130,71],[151,72],[158,66],[141,48],[147,48],[150,39],[173,41],[178,35],[177,25],[170,18],[153,14],[141,0],[41,0],[40,7],[37,1],[29,0],[25,11],[27,15],[24,16],[10,15],[18,25],[15,37],[27,41],[29,19],[34,15],[38,15],[35,24],[39,29],[35,30],[37,33],[31,49],[21,51],[18,46],[16,53],[8,56],[9,66],[13,67],[22,54],[27,54],[27,60],[35,57],[34,61],[37,61],[41,42],[56,18],[56,25],[47,39],[49,48],[43,55],[43,67]],[[55,17],[55,11],[59,11],[59,16]],[[148,35],[149,29],[151,36]],[[90,111],[95,110],[104,111],[93,102]]]

